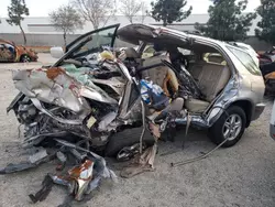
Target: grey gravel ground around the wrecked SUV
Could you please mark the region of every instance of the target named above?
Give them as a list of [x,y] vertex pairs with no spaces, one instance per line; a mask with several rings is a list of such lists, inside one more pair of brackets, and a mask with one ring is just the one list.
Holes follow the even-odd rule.
[[[53,62],[41,54],[44,64]],[[42,63],[1,64],[0,69],[0,166],[24,159],[18,134],[18,122],[13,112],[6,108],[16,95],[11,80],[12,68],[38,67]],[[242,140],[233,148],[220,149],[206,160],[172,168],[177,162],[200,155],[215,148],[205,131],[190,130],[185,149],[179,133],[176,142],[162,142],[155,161],[155,172],[130,179],[120,178],[118,184],[102,183],[88,201],[72,206],[169,206],[169,207],[274,207],[275,206],[275,141],[268,137],[272,100],[266,99],[266,109],[261,118],[245,131]],[[161,156],[173,151],[175,153]],[[119,173],[121,164],[109,161]],[[28,197],[41,187],[54,163],[12,175],[0,176],[0,207],[58,206],[66,199],[66,189],[54,186],[43,203],[32,205]]]

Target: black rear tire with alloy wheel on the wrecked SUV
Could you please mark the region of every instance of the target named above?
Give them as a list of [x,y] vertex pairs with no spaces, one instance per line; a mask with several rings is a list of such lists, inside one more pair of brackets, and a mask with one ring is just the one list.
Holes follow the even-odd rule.
[[[234,117],[235,121],[235,128],[233,129],[232,135],[230,132],[231,129],[231,122],[232,118]],[[239,126],[239,121],[240,120],[240,128],[238,128],[237,126]],[[230,126],[230,127],[228,127]],[[231,138],[221,146],[222,148],[230,148],[233,146],[243,135],[243,132],[245,130],[245,126],[246,126],[246,116],[245,112],[243,111],[242,108],[238,107],[238,106],[232,106],[229,107],[222,115],[221,117],[216,121],[216,123],[209,129],[209,133],[208,137],[210,138],[210,140],[216,143],[217,145],[220,144],[221,142],[224,141],[226,135],[224,133],[229,133],[229,135],[231,135]],[[234,131],[235,130],[235,131]]]

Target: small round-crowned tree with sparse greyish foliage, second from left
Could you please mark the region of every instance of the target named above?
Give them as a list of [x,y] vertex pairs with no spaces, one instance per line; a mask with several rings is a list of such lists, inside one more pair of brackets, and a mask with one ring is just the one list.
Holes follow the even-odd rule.
[[72,6],[62,6],[48,15],[55,30],[63,32],[65,46],[67,45],[67,34],[82,29],[84,21]]

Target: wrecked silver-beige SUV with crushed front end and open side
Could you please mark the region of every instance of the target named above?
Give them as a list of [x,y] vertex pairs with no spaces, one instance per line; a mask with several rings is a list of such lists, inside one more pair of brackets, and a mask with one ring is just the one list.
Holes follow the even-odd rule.
[[[145,126],[153,123],[160,133],[175,126],[208,129],[215,143],[226,140],[223,146],[232,146],[263,112],[264,81],[246,51],[166,28],[118,28],[84,34],[65,54],[52,48],[53,56],[61,58],[48,69],[13,72],[20,94],[8,111],[13,109],[25,126],[26,145],[45,145],[58,137],[116,155],[139,142]],[[127,48],[123,59],[113,57],[107,47],[113,47],[116,37],[139,48]],[[154,43],[173,53],[189,50],[196,61],[169,62],[172,52],[143,59],[144,48]],[[150,115],[140,91],[141,80],[147,78],[163,88],[170,102],[153,102],[147,106]],[[146,139],[148,145],[154,142]]]

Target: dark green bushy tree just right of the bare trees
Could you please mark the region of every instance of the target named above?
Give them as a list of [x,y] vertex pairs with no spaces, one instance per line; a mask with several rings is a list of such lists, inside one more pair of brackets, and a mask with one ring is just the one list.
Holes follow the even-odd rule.
[[184,11],[186,4],[187,0],[157,0],[156,2],[151,2],[152,11],[150,14],[157,22],[163,21],[163,25],[166,26],[190,15],[193,7]]

